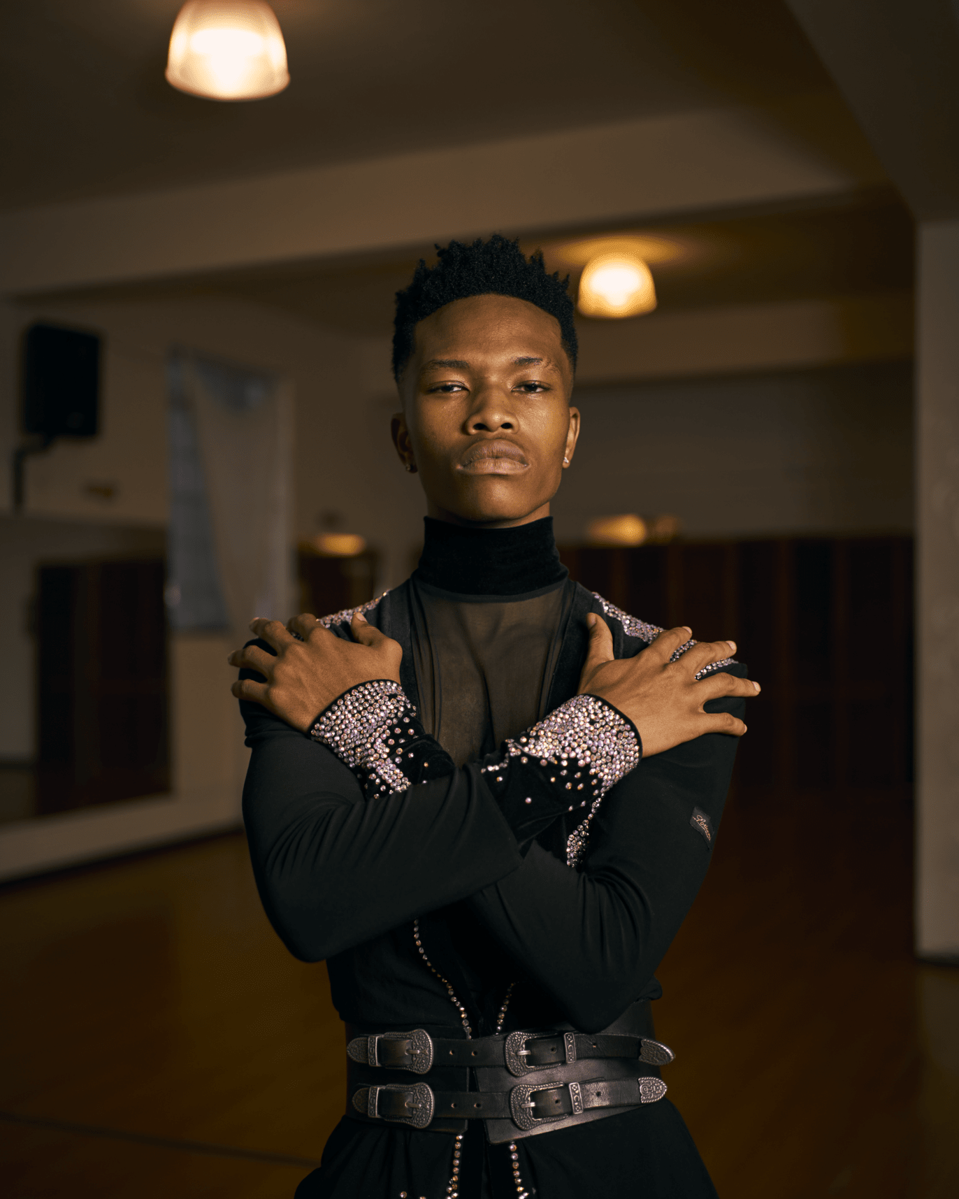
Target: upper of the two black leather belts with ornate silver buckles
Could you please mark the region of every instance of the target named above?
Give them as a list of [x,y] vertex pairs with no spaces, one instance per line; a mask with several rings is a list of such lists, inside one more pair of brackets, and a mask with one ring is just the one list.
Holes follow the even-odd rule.
[[513,1078],[589,1059],[635,1058],[649,1066],[665,1066],[674,1056],[671,1049],[651,1037],[610,1032],[590,1036],[556,1029],[475,1041],[432,1037],[424,1029],[375,1032],[354,1037],[346,1053],[363,1066],[409,1070],[414,1074],[428,1074],[434,1066],[505,1066]]

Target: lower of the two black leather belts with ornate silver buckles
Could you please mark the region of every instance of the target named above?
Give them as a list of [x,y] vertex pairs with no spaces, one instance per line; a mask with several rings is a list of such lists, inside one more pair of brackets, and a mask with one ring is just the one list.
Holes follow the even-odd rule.
[[519,1083],[509,1091],[434,1091],[426,1083],[361,1086],[352,1104],[368,1120],[427,1128],[434,1119],[512,1120],[517,1128],[537,1127],[598,1108],[656,1103],[667,1093],[655,1077],[591,1079],[584,1083]]

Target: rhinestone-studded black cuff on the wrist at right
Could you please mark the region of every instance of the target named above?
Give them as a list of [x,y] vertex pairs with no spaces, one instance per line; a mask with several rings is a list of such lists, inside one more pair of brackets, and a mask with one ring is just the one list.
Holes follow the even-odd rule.
[[519,802],[541,807],[544,793],[573,813],[569,823],[577,827],[567,838],[566,860],[577,866],[603,796],[641,758],[643,742],[632,721],[597,695],[574,695],[529,733],[505,741],[482,772],[511,824],[515,818],[509,809]]

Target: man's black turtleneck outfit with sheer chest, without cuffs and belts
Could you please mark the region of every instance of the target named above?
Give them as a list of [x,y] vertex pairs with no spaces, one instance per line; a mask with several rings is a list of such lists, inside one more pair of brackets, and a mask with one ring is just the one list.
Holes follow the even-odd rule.
[[[483,767],[575,695],[589,611],[607,619],[617,657],[641,652],[655,626],[568,579],[550,518],[502,530],[427,519],[417,570],[363,611],[403,646],[403,689],[456,769],[376,797],[325,745],[241,705],[253,751],[243,813],[264,906],[297,957],[326,959],[351,1035],[463,1036],[451,990],[474,1036],[493,1032],[511,983],[503,1032],[562,1022],[598,1031],[657,998],[653,971],[708,864],[735,739],[710,735],[643,760],[591,825],[583,801],[531,790],[512,803]],[[324,623],[349,638],[351,615]],[[586,827],[571,867],[571,835]],[[472,1085],[466,1073],[457,1086]],[[512,1199],[511,1161],[541,1199],[714,1195],[668,1099],[520,1140],[515,1159],[503,1145],[477,1150],[476,1137],[471,1126],[459,1199]],[[450,1139],[348,1116],[297,1199],[441,1199]]]

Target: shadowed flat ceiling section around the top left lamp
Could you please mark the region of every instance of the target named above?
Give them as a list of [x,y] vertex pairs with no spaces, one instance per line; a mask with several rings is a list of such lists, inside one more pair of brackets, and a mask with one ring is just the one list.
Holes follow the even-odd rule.
[[276,0],[290,88],[218,103],[163,79],[177,8],[6,6],[0,207],[832,90],[782,0]]

